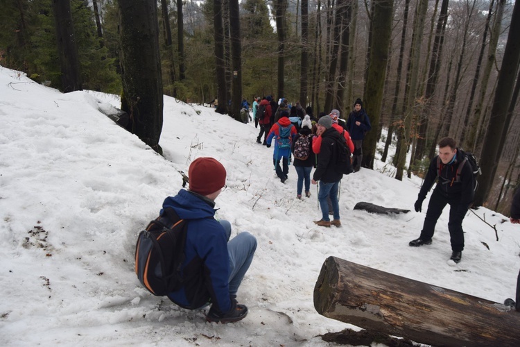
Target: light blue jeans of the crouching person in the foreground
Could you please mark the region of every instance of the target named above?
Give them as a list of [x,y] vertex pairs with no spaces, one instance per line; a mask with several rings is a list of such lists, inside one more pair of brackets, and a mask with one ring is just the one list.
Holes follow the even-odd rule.
[[240,284],[253,260],[257,249],[257,239],[249,232],[244,231],[229,240],[231,223],[221,220],[220,225],[226,232],[227,254],[229,255],[229,295],[236,295]]

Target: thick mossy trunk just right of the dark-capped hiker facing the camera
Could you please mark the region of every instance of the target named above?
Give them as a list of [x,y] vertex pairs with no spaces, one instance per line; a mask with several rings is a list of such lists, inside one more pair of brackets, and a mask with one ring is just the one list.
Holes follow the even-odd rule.
[[383,102],[383,89],[390,48],[390,35],[392,33],[393,0],[379,0],[374,3],[372,21],[373,26],[372,47],[370,48],[370,60],[368,65],[367,83],[365,85],[365,110],[370,117],[370,123],[374,124],[363,141],[363,162],[365,167],[374,168],[376,144],[378,134],[376,126],[379,124],[381,104]]

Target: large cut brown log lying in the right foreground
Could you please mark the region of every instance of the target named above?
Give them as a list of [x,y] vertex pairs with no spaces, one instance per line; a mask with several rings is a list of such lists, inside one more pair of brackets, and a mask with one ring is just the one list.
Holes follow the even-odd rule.
[[520,312],[336,257],[314,288],[319,314],[433,346],[519,346]]

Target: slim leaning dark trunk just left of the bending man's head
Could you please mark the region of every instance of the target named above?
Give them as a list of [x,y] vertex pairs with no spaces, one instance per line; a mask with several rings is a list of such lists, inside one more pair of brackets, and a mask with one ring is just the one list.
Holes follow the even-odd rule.
[[428,82],[426,83],[426,92],[424,93],[425,107],[422,109],[421,124],[417,132],[417,146],[414,156],[415,162],[420,162],[422,158],[424,158],[424,152],[426,151],[428,119],[431,115],[432,98],[435,95],[437,82],[439,80],[444,33],[446,32],[446,24],[448,22],[448,3],[449,0],[442,0],[439,19],[437,20],[437,27],[435,28],[435,38],[433,39],[433,49],[427,78]]

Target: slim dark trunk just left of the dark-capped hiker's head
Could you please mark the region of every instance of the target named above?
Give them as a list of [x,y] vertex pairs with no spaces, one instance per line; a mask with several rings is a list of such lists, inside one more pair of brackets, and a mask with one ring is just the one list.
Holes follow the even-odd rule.
[[340,46],[340,69],[338,71],[338,88],[336,90],[335,108],[340,110],[345,118],[345,90],[347,89],[347,67],[349,63],[349,39],[350,39],[350,19],[352,18],[352,1],[347,0],[342,6],[341,23],[341,46]]

